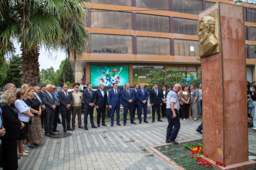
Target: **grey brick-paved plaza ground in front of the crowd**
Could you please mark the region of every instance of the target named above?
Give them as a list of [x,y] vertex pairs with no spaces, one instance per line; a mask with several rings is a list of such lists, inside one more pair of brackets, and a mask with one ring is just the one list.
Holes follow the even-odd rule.
[[[83,120],[83,119],[82,119]],[[38,148],[27,148],[29,156],[18,160],[19,169],[177,169],[150,150],[165,143],[164,122],[100,126],[89,131],[76,128],[70,137],[46,137]],[[177,141],[199,138],[195,129],[201,120],[180,120]],[[58,125],[62,132],[62,126]],[[256,131],[248,129],[249,150],[256,152]]]

